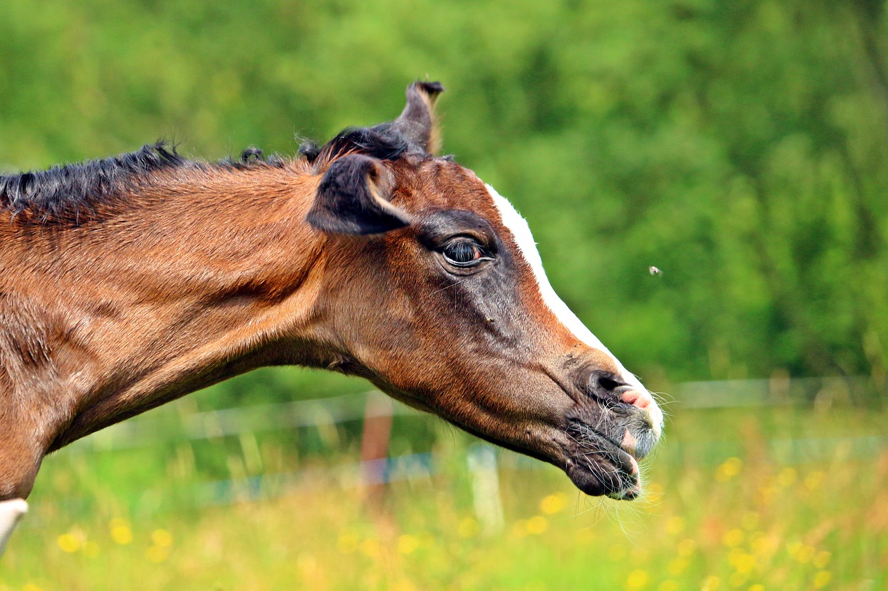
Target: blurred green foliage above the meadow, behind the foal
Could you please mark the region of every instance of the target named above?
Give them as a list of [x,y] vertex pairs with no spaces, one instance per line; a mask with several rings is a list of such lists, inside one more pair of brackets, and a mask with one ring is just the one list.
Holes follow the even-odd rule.
[[292,154],[427,76],[642,377],[883,374],[886,32],[877,0],[7,2],[0,164]]

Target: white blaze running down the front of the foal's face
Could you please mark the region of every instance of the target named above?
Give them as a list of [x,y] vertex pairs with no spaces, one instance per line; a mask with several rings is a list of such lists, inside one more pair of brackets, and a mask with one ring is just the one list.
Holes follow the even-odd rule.
[[539,289],[540,296],[543,297],[543,302],[549,306],[549,309],[555,314],[560,322],[567,327],[577,339],[586,343],[593,349],[598,349],[599,351],[607,353],[607,355],[614,360],[614,364],[619,369],[622,379],[625,380],[626,383],[637,388],[639,393],[643,392],[644,394],[641,394],[641,396],[646,395],[646,397],[650,398],[650,403],[646,405],[646,408],[647,412],[651,414],[651,419],[654,422],[654,432],[659,435],[662,423],[662,411],[659,406],[657,406],[656,402],[654,402],[651,394],[643,385],[641,385],[638,378],[634,374],[628,372],[626,368],[622,366],[620,360],[616,359],[614,354],[607,350],[604,343],[601,343],[599,338],[592,334],[591,330],[583,324],[583,320],[577,318],[576,314],[567,307],[567,303],[564,303],[559,295],[555,293],[555,289],[552,288],[549,278],[546,277],[546,272],[543,270],[543,259],[540,257],[540,252],[536,248],[536,242],[533,234],[530,232],[530,226],[527,225],[527,220],[524,219],[524,217],[521,217],[521,214],[518,213],[518,210],[515,209],[509,200],[503,197],[503,195],[496,193],[495,188],[487,184],[485,184],[485,186],[488,188],[488,193],[490,193],[494,205],[496,206],[497,211],[499,211],[500,217],[503,219],[503,225],[509,229],[512,238],[515,239],[515,243],[518,245],[519,251],[533,270],[536,279],[536,287]]

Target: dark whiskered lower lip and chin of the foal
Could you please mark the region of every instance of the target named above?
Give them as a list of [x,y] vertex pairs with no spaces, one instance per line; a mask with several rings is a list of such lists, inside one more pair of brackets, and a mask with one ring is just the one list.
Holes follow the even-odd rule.
[[567,428],[571,447],[567,451],[567,476],[583,493],[632,500],[641,493],[638,461],[590,425],[571,422]]

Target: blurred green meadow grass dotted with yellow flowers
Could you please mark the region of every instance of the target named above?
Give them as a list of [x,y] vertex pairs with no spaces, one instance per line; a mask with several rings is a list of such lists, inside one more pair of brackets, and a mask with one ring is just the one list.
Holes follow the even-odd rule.
[[377,508],[329,472],[226,505],[207,505],[195,488],[220,465],[238,478],[354,461],[347,433],[337,453],[298,459],[286,433],[75,447],[45,461],[0,589],[888,586],[885,414],[673,412],[643,462],[640,501],[587,499],[559,470],[501,453],[505,525],[487,535],[466,469],[474,440],[431,417],[400,429],[437,433],[436,474],[390,485]]

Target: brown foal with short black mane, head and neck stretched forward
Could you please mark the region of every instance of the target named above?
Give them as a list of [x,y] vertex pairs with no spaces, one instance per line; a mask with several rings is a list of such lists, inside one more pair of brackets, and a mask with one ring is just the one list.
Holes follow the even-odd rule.
[[163,144],[0,177],[0,500],[46,453],[258,366],[360,375],[631,499],[651,394],[567,309],[527,223],[437,157],[438,83],[294,159]]

